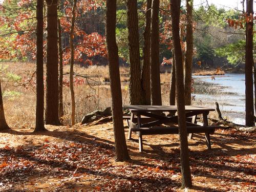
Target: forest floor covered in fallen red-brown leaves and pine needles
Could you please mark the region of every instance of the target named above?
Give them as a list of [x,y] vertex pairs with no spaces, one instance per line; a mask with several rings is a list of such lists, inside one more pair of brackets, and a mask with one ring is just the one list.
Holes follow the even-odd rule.
[[[1,191],[183,191],[178,135],[144,136],[139,153],[133,134],[132,160],[116,162],[112,122],[46,127],[0,133]],[[188,191],[255,191],[255,133],[217,130],[211,138],[211,150],[202,134],[189,140]]]

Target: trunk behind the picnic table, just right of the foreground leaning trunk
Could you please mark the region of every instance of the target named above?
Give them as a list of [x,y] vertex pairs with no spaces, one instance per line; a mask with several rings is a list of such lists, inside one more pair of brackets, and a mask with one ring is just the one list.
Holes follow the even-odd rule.
[[191,105],[193,62],[193,0],[186,0],[185,105]]

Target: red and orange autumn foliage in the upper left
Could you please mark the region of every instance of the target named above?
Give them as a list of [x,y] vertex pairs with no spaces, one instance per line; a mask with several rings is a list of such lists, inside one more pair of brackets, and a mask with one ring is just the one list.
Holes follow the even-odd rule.
[[[60,2],[61,3],[61,2]],[[103,1],[90,0],[79,1],[77,4],[76,24],[75,24],[75,62],[82,65],[93,65],[91,60],[94,56],[106,57],[105,37],[99,33],[88,34],[83,27],[79,25],[79,21],[86,22],[88,17],[84,17],[85,13],[91,10],[101,9]],[[61,23],[61,31],[63,32],[62,40],[68,42],[68,34],[71,26],[71,10],[70,1],[65,1],[63,7],[58,13]],[[12,8],[15,8],[13,11]],[[19,8],[19,9],[18,9]],[[36,44],[35,44],[35,5],[30,0],[16,0],[14,2],[4,1],[0,4],[0,60],[35,60]],[[12,14],[15,12],[15,14]],[[45,19],[46,20],[46,19]],[[46,28],[46,23],[45,26]],[[45,37],[46,37],[45,31]],[[46,48],[46,40],[44,40],[44,48]],[[46,51],[44,51],[46,54]],[[45,55],[46,56],[46,55]],[[69,44],[63,47],[63,63],[68,64],[70,59]]]

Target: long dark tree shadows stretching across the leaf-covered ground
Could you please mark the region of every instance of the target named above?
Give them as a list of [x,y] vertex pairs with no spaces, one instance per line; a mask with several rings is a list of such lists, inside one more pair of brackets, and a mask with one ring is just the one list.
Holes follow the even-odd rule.
[[[15,131],[15,130],[9,130],[6,133],[9,134],[13,134],[13,135],[46,135],[46,136],[51,136],[51,137],[55,137],[55,138],[61,138],[64,140],[69,140],[69,141],[74,141],[74,142],[79,142],[79,143],[91,143],[93,145],[98,145],[100,144],[101,147],[104,147],[108,150],[111,150],[114,153],[114,142],[107,140],[107,139],[103,139],[103,138],[98,138],[95,137],[93,135],[89,135],[86,132],[80,132],[80,131],[49,131],[49,132],[40,132],[40,133],[32,133],[32,132],[19,132],[19,131]],[[238,145],[248,145],[251,141],[243,141],[244,143],[241,143],[241,140],[232,140],[232,139],[228,139],[225,140],[225,142],[223,141],[223,139],[220,139],[217,137],[217,135],[220,134],[216,134],[216,135],[211,135],[211,140],[212,143],[214,143],[215,145],[219,145],[221,148],[212,148],[211,150],[203,150],[203,151],[190,151],[189,152],[189,156],[190,158],[190,163],[191,165],[196,165],[197,167],[204,167],[207,170],[204,169],[204,172],[202,173],[202,171],[200,169],[194,169],[192,170],[193,175],[196,176],[204,176],[207,178],[214,178],[214,179],[219,179],[219,180],[229,180],[229,181],[233,181],[233,182],[247,182],[248,180],[245,178],[234,178],[231,177],[229,175],[223,175],[221,173],[218,173],[219,170],[224,170],[224,171],[229,171],[229,172],[234,172],[234,173],[244,173],[246,175],[254,175],[255,170],[253,168],[248,168],[248,167],[237,167],[237,166],[230,166],[230,165],[226,165],[225,162],[224,164],[220,164],[218,162],[217,157],[218,156],[236,156],[236,155],[247,155],[247,154],[255,154],[255,148],[234,148],[229,146],[228,144],[230,143],[235,143]],[[222,134],[222,136],[225,136],[225,134]],[[197,146],[199,144],[204,144],[205,142],[204,140],[204,136],[196,134],[194,135],[194,140],[196,141],[195,143],[189,143],[189,146]],[[138,140],[134,139],[133,141],[138,142]],[[138,152],[138,148],[137,147],[133,147],[129,145],[130,150],[130,154],[134,157],[143,157],[143,158],[151,158],[151,159],[165,159],[167,161],[175,161],[178,165],[179,165],[179,156],[180,156],[180,151],[179,149],[177,149],[177,147],[179,146],[179,143],[175,142],[175,143],[170,143],[170,144],[147,144],[144,143],[145,145],[148,145],[152,148],[152,150],[145,150],[145,152],[143,153],[139,153]],[[35,146],[36,147],[36,146]],[[166,152],[163,147],[176,147],[174,149],[172,149],[171,152]],[[225,153],[223,150],[229,151],[229,153]],[[230,153],[231,152],[231,153]],[[150,153],[150,154],[149,154]],[[17,153],[14,153],[15,156],[20,157]],[[211,157],[212,159],[209,160],[209,157]],[[88,168],[77,168],[77,166],[73,166],[67,162],[62,162],[62,163],[58,163],[55,161],[46,161],[46,160],[42,160],[39,158],[35,158],[35,157],[31,157],[31,156],[25,156],[25,158],[27,158],[28,160],[31,161],[36,161],[38,163],[41,164],[46,164],[52,167],[58,167],[58,168],[63,168],[64,170],[70,170],[71,172],[74,172],[75,170],[77,170],[78,173],[86,173],[86,174],[92,174],[94,176],[103,176],[103,177],[119,177],[122,178],[124,180],[142,180],[145,182],[149,182],[149,183],[158,183],[160,181],[156,181],[156,180],[147,180],[147,178],[141,178],[141,177],[128,177],[122,174],[113,174],[113,173],[108,173],[108,172],[101,172],[100,170],[91,170]],[[226,160],[225,160],[226,161]],[[136,164],[136,165],[140,165],[140,166],[147,166],[147,167],[156,167],[157,163],[148,163],[145,162],[145,160],[141,160],[139,158],[136,158],[136,160],[131,160],[129,161],[132,164]],[[232,162],[231,160],[228,160],[227,162]],[[241,163],[243,164],[243,163]],[[244,163],[245,164],[245,163]],[[251,165],[253,163],[250,163]],[[209,170],[211,169],[211,171]],[[216,174],[212,174],[212,170],[214,172],[216,172]],[[176,172],[180,172],[180,169],[176,169]],[[6,173],[8,174],[8,173]],[[9,173],[10,174],[10,173]],[[15,174],[15,173],[12,173]],[[161,180],[161,182],[163,182]],[[160,182],[160,183],[161,183]],[[172,183],[171,185],[174,186],[179,186],[179,183],[177,183],[177,181],[173,181],[173,180],[167,180],[165,181],[167,183]],[[158,184],[160,184],[158,183]],[[211,189],[211,188],[200,188],[199,186],[197,186],[198,190],[204,190],[204,191],[218,191],[216,189]]]

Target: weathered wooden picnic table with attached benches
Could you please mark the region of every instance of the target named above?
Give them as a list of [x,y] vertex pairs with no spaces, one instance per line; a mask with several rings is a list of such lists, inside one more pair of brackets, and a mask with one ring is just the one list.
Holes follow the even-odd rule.
[[[163,112],[175,114],[177,112],[176,105],[127,105],[125,106],[130,112],[130,116],[124,117],[129,125],[127,139],[132,139],[132,132],[136,132],[139,136],[139,151],[143,151],[142,135],[163,135],[163,134],[179,134],[178,126],[160,126],[162,124],[178,123],[178,116],[165,116]],[[187,133],[191,139],[194,133],[205,133],[207,148],[211,148],[210,134],[215,132],[220,126],[208,125],[208,114],[215,111],[207,106],[185,106],[185,116],[187,118]],[[203,123],[198,122],[198,115],[203,116]]]

